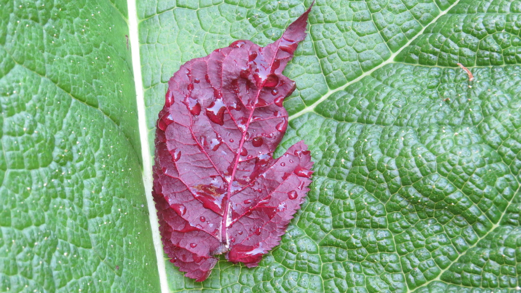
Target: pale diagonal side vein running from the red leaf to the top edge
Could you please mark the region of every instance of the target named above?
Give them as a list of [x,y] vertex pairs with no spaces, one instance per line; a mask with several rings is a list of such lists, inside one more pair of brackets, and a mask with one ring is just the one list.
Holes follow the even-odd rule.
[[355,83],[355,82],[358,82],[360,80],[362,80],[364,77],[366,76],[370,76],[371,74],[373,74],[373,72],[375,72],[376,70],[382,68],[383,66],[386,66],[387,64],[390,64],[390,63],[393,63],[394,62],[394,58],[396,56],[398,56],[398,54],[400,54],[404,48],[408,47],[414,40],[416,40],[416,38],[418,38],[418,36],[422,35],[423,32],[425,31],[425,29],[427,29],[432,23],[435,23],[440,17],[444,16],[445,14],[447,14],[449,12],[449,10],[452,9],[452,7],[456,6],[456,4],[458,4],[458,2],[460,2],[460,0],[457,0],[456,2],[454,2],[451,6],[449,6],[449,8],[445,9],[445,10],[440,10],[440,14],[435,17],[434,19],[432,19],[432,21],[430,21],[425,27],[423,27],[423,29],[421,29],[413,38],[411,38],[411,40],[409,40],[405,45],[403,45],[400,50],[394,52],[391,54],[391,56],[385,60],[384,62],[380,63],[380,65],[376,66],[375,68],[369,70],[369,71],[366,71],[364,72],[364,74],[362,74],[361,76],[347,82],[344,84],[344,86],[342,87],[339,87],[337,89],[334,89],[334,90],[329,90],[324,96],[322,96],[320,99],[318,99],[315,103],[305,107],[304,109],[302,109],[301,111],[291,115],[288,117],[288,120],[292,120],[292,119],[295,119],[296,117],[299,117],[303,114],[306,114],[308,112],[312,112],[314,111],[315,107],[317,105],[319,105],[320,103],[324,102],[328,97],[330,97],[332,94],[338,92],[338,91],[342,91],[344,90],[345,88],[351,86],[351,84]]

